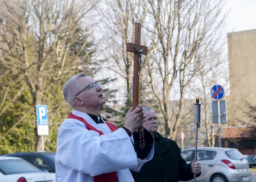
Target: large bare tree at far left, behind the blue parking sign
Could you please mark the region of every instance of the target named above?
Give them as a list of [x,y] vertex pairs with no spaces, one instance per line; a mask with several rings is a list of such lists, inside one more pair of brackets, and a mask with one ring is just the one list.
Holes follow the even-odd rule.
[[[26,108],[32,110],[34,116],[36,105],[51,102],[45,94],[62,95],[61,92],[46,92],[54,84],[61,84],[61,78],[90,70],[87,65],[92,64],[95,45],[92,31],[85,22],[96,3],[94,0],[0,1],[1,67],[10,69],[9,74],[15,77],[13,82],[25,84],[32,99],[32,108],[29,105]],[[49,112],[50,118],[56,116],[63,102],[54,105],[55,109]],[[35,150],[39,150],[41,142],[35,134]]]

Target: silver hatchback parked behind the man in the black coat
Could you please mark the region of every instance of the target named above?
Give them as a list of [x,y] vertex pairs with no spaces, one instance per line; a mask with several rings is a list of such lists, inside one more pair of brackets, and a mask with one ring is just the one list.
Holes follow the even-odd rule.
[[[194,148],[182,150],[181,156],[190,163],[195,157]],[[197,161],[201,164],[201,175],[197,177],[197,182],[251,181],[249,163],[238,149],[198,147]]]

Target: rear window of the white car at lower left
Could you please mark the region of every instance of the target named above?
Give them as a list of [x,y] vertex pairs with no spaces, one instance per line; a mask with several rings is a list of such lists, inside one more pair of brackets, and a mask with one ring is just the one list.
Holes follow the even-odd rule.
[[0,172],[4,175],[7,175],[20,173],[37,173],[42,171],[26,162],[25,160],[6,159],[0,160]]

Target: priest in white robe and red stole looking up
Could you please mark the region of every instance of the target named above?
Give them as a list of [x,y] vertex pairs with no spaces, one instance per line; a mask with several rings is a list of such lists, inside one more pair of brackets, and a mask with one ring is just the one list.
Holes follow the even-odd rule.
[[56,182],[134,182],[129,169],[139,171],[153,157],[152,135],[142,128],[142,141],[136,131],[146,121],[142,105],[130,109],[125,124],[117,128],[100,116],[105,104],[101,91],[102,85],[85,73],[64,85],[64,98],[73,111],[58,131]]

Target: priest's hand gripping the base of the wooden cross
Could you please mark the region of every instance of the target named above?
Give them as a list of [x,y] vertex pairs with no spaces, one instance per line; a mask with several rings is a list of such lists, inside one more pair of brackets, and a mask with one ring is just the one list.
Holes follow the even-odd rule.
[[[139,104],[134,111],[132,111],[132,108],[130,108],[125,117],[125,124],[123,126],[126,127],[128,130],[130,130],[132,132],[132,134],[142,124],[142,121],[140,118],[141,109],[139,107],[142,107],[142,105]],[[144,111],[142,113],[143,113],[143,118],[144,118],[143,122],[145,122],[146,114]]]

